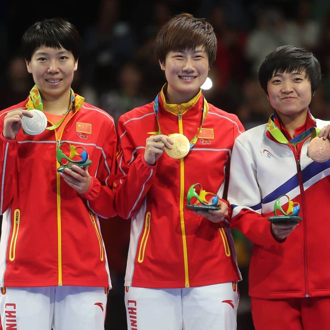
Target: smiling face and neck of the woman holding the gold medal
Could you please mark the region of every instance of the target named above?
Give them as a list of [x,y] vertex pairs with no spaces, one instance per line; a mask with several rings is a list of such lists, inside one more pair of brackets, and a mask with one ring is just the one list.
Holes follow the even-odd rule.
[[161,63],[168,82],[166,97],[171,104],[186,103],[198,92],[205,82],[209,67],[209,57],[203,46],[194,50],[170,51]]

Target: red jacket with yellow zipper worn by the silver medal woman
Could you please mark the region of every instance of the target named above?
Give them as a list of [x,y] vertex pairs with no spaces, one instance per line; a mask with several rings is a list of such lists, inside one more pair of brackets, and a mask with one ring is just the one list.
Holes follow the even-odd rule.
[[[15,140],[2,135],[9,111],[0,112],[0,286],[111,286],[98,217],[116,215],[112,185],[116,132],[113,118],[84,102],[61,136],[22,129]],[[48,126],[50,124],[48,123]],[[56,172],[56,141],[86,149],[92,183],[82,195]]]

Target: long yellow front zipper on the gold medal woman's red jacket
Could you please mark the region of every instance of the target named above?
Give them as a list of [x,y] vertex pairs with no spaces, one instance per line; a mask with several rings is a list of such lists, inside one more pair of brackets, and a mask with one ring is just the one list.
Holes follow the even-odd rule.
[[[179,114],[179,133],[183,134],[182,127],[182,115],[181,115],[181,105],[178,105]],[[189,274],[188,274],[188,253],[187,253],[187,241],[185,236],[185,227],[184,227],[184,217],[183,217],[183,197],[184,197],[184,163],[183,158],[180,159],[180,221],[181,221],[181,231],[182,231],[182,245],[183,245],[183,262],[184,262],[184,280],[185,287],[189,287]]]

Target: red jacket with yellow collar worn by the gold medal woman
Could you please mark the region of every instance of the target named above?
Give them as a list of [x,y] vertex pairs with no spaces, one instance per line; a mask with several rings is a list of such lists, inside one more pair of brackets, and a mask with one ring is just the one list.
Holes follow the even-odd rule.
[[[162,134],[182,133],[190,141],[202,114],[201,93],[186,104],[169,105],[161,91]],[[222,197],[233,142],[242,131],[237,116],[210,104],[203,130],[188,155],[173,159],[164,152],[149,166],[144,160],[146,139],[158,133],[153,102],[120,117],[115,203],[119,216],[132,218],[126,286],[180,288],[241,278],[230,228],[184,206],[194,183]]]

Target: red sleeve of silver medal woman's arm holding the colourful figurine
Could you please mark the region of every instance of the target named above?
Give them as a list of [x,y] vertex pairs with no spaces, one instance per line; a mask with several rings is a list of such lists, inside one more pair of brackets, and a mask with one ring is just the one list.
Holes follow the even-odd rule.
[[89,209],[102,218],[116,215],[114,206],[113,182],[116,171],[117,136],[115,125],[111,122],[107,140],[102,145],[102,156],[95,177],[91,177],[89,188],[82,194]]

